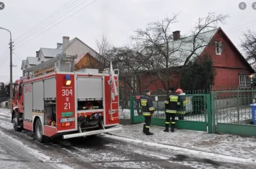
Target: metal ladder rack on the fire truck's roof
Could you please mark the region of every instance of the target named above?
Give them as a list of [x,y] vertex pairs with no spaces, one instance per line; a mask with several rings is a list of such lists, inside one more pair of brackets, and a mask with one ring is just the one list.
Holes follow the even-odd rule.
[[[76,58],[77,58],[77,55],[59,54],[56,57],[49,59],[48,61],[42,62],[40,64],[36,64],[36,66],[33,66],[31,68],[24,70],[24,72],[26,73],[26,75],[29,75],[29,73],[31,72],[35,73],[35,71],[39,71],[47,68],[52,68],[52,70],[55,70],[55,71],[61,71],[61,64],[63,64],[63,62],[71,62],[69,71],[74,71],[74,59]],[[48,71],[48,70],[45,70],[45,71]],[[42,71],[42,72],[45,72],[45,71]]]

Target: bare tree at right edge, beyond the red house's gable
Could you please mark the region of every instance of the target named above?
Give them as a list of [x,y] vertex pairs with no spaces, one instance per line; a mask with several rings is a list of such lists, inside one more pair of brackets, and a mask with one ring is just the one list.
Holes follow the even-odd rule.
[[243,34],[244,40],[241,41],[241,48],[246,54],[246,59],[251,64],[256,63],[256,31],[248,31]]

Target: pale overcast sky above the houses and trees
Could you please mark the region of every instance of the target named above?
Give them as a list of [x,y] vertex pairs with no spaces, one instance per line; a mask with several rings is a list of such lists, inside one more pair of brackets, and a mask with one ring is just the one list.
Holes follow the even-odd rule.
[[[0,10],[0,27],[12,31],[15,45],[13,64],[17,67],[13,67],[13,82],[22,75],[22,59],[35,57],[36,50],[41,47],[56,48],[56,43],[62,43],[62,36],[70,36],[70,39],[77,37],[95,48],[95,40],[105,34],[114,45],[124,45],[129,42],[134,29],[143,29],[148,22],[172,17],[172,13],[178,12],[179,22],[172,26],[172,31],[179,30],[181,35],[188,34],[198,17],[205,17],[208,12],[230,15],[227,25],[220,26],[237,47],[244,31],[256,30],[256,10],[252,8],[252,3],[256,0],[244,0],[247,4],[245,10],[238,8],[241,1],[237,0],[72,0],[73,5],[65,7],[65,11],[59,10],[69,1],[0,0],[5,4],[4,10]],[[92,3],[93,1],[95,2]],[[85,6],[88,7],[84,8]],[[82,8],[84,9],[76,13]],[[55,13],[55,17],[49,17],[56,10],[60,14]],[[70,15],[72,17],[67,18]],[[48,20],[42,22],[47,17]],[[65,18],[67,19],[58,24]],[[31,29],[38,23],[41,24],[40,27]],[[55,24],[58,25],[54,26]],[[52,28],[49,29],[50,27]],[[33,32],[19,38],[29,29]],[[46,29],[49,30],[45,31]],[[40,35],[37,36],[38,34]],[[35,36],[37,37],[34,38]],[[9,41],[10,34],[0,29],[0,82],[8,82],[10,79],[10,52],[6,51]]]

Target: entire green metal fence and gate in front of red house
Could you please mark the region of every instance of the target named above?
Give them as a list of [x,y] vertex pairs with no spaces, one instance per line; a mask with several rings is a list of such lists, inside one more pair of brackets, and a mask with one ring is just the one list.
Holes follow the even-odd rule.
[[[250,104],[256,102],[256,90],[185,91],[186,114],[184,120],[176,117],[176,128],[256,136]],[[164,126],[164,99],[166,95],[152,95],[156,112],[151,125]],[[140,96],[131,96],[131,124],[144,122]]]

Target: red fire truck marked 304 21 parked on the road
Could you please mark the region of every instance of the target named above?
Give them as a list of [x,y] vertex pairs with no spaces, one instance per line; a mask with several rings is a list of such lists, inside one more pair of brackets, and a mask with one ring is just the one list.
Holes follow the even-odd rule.
[[[74,58],[58,55],[25,70],[15,81],[12,123],[28,129],[38,142],[117,131],[118,70],[73,71]],[[117,73],[115,74],[115,72]],[[116,126],[115,128],[113,128]]]

